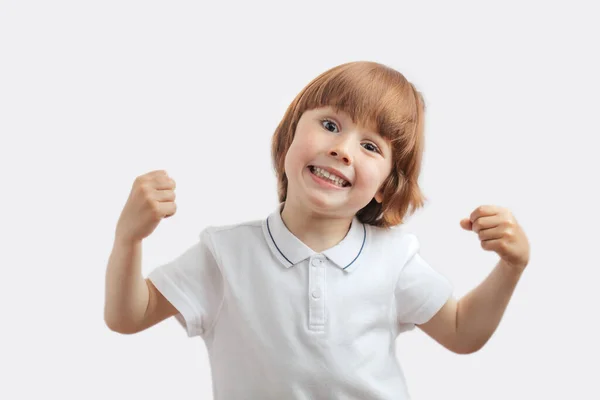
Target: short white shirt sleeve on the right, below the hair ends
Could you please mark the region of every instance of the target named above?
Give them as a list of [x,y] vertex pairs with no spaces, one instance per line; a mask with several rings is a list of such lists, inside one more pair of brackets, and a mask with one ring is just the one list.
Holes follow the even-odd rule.
[[407,259],[395,288],[400,330],[429,321],[452,296],[451,283],[434,270],[420,255],[419,241],[408,234]]

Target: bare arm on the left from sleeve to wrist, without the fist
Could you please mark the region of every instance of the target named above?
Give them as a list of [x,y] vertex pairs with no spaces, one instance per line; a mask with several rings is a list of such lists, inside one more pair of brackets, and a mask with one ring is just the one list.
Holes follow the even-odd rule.
[[141,332],[178,310],[141,274],[142,242],[115,241],[106,269],[104,321],[113,331]]

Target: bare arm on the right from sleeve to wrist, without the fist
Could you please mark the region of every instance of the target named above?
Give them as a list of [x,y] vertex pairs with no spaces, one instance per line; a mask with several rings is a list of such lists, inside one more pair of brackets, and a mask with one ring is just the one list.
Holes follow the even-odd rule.
[[498,327],[521,274],[501,259],[479,286],[459,301],[450,298],[419,328],[455,353],[481,349]]

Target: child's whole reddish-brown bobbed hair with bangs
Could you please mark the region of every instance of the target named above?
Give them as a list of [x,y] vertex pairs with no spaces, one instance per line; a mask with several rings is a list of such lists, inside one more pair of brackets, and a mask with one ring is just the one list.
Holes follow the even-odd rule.
[[[404,222],[407,214],[423,207],[427,198],[418,185],[424,147],[423,95],[400,72],[370,62],[350,62],[313,79],[289,105],[271,143],[277,175],[279,202],[287,197],[287,154],[301,115],[314,108],[331,106],[344,111],[353,122],[374,126],[390,141],[392,171],[382,185],[383,200],[356,213],[365,224],[389,228]],[[410,210],[409,210],[410,209]]]

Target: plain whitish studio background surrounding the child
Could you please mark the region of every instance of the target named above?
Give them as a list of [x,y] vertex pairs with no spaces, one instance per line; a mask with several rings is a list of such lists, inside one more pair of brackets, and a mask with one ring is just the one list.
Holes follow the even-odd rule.
[[[416,3],[416,2],[415,2]],[[509,208],[531,261],[472,355],[398,339],[414,399],[598,399],[598,93],[593,2],[0,2],[3,399],[211,398],[202,339],[174,318],[103,320],[114,229],[165,169],[177,214],[143,272],[208,225],[277,204],[271,135],[319,73],[371,60],[427,102],[426,207],[409,230],[460,297],[491,271],[459,221]]]

